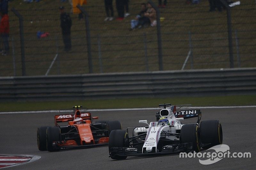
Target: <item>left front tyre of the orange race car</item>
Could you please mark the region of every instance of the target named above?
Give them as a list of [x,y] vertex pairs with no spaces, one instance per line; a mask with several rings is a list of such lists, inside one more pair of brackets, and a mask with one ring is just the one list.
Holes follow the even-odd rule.
[[60,141],[60,128],[59,127],[48,127],[46,129],[46,148],[47,151],[59,151],[60,148],[58,146],[53,146],[52,143],[56,141]]

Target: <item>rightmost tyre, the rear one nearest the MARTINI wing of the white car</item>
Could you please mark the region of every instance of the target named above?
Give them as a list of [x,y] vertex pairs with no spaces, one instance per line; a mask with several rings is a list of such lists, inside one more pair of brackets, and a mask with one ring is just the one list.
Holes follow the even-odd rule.
[[222,127],[218,120],[202,121],[200,123],[202,148],[208,149],[212,146],[222,144]]

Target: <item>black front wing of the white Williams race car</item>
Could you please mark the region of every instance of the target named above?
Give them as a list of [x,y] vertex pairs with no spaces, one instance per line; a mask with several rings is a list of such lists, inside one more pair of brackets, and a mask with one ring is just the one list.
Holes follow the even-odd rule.
[[136,148],[125,148],[125,147],[112,147],[110,148],[109,157],[114,156],[151,156],[151,155],[165,155],[175,154],[180,152],[192,152],[192,142],[183,144],[172,144],[166,145],[162,148],[161,152],[153,153],[142,153],[138,152]]

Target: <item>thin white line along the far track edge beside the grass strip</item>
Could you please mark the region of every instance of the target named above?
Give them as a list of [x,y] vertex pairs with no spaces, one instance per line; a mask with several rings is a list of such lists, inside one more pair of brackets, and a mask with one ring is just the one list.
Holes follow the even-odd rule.
[[[256,106],[207,106],[207,107],[189,107],[189,108],[201,108],[201,109],[222,109],[222,108],[250,108]],[[129,111],[129,110],[159,110],[159,107],[149,107],[149,108],[123,108],[123,109],[89,109],[87,111]],[[72,112],[72,110],[70,110]],[[23,112],[0,112],[0,114],[25,114],[25,113],[56,113],[61,114],[60,110],[43,110],[43,111],[23,111]]]

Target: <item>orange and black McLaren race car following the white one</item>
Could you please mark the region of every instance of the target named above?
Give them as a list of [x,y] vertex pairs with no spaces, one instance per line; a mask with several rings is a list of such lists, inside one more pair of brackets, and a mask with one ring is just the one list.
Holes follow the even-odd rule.
[[[72,114],[55,115],[55,126],[37,128],[37,146],[40,151],[60,151],[68,148],[86,148],[108,144],[112,130],[122,129],[119,121],[92,122],[90,112],[74,106]],[[65,125],[62,122],[66,122]],[[67,124],[68,122],[68,124]],[[59,123],[59,124],[58,124]]]

